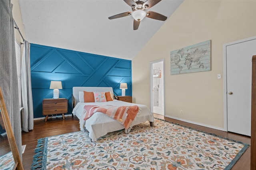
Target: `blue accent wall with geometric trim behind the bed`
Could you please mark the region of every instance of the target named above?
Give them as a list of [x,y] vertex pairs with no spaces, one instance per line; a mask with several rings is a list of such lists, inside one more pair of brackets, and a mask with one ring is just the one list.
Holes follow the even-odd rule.
[[120,83],[127,83],[132,96],[132,62],[102,55],[30,44],[31,84],[34,118],[43,117],[42,100],[52,98],[51,80],[62,81],[60,98],[68,99],[72,113],[72,87],[112,87],[121,96]]

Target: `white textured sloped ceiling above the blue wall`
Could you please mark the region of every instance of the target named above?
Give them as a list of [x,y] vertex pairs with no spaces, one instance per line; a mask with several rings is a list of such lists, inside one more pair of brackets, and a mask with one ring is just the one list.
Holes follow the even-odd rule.
[[[149,10],[168,18],[183,0],[162,0]],[[30,43],[132,60],[164,21],[144,18],[133,30],[132,11],[123,0],[19,0]],[[167,19],[168,20],[168,19]]]

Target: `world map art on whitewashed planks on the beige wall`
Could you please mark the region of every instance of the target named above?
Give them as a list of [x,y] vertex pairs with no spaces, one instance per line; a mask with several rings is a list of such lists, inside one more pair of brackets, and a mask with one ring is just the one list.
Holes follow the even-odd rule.
[[211,40],[170,53],[171,75],[211,70]]

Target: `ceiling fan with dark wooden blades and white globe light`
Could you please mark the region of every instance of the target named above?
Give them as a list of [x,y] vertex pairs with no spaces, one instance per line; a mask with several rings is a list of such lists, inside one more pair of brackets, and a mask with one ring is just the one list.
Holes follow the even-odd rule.
[[140,21],[143,20],[143,18],[145,18],[145,17],[152,18],[155,20],[165,21],[167,19],[166,16],[159,14],[157,12],[154,12],[154,11],[146,11],[147,9],[156,5],[160,1],[161,0],[146,0],[146,2],[143,2],[143,1],[138,0],[138,1],[134,2],[134,0],[124,0],[124,2],[126,2],[126,4],[128,4],[130,7],[132,7],[132,12],[124,12],[121,14],[110,16],[110,17],[108,17],[108,19],[112,20],[112,19],[132,15],[132,18],[134,18],[134,20],[133,20],[133,29],[134,30],[138,29],[138,27],[140,25]]

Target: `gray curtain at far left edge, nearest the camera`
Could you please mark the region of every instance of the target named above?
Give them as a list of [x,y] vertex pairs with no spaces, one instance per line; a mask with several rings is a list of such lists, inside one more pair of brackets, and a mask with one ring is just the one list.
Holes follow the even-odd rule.
[[16,67],[12,4],[10,0],[0,0],[0,87],[4,96],[20,158],[22,158],[21,121]]

